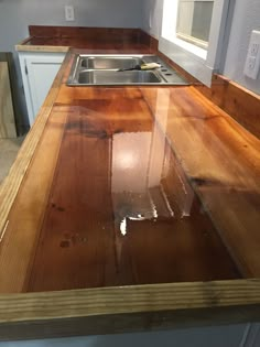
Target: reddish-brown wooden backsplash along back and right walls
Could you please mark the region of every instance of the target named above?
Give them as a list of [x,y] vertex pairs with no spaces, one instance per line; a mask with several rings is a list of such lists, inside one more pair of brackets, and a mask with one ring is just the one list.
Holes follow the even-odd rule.
[[[159,54],[187,80],[196,85],[196,88],[209,98],[209,100],[229,113],[256,137],[260,137],[260,98],[258,95],[221,75],[213,76],[210,88],[204,86],[161,53],[158,50],[159,41],[143,30],[30,25],[30,34],[32,37],[17,45],[17,51],[66,52],[68,46],[72,46],[89,48],[89,53],[94,53],[96,50],[108,48],[110,42],[113,41],[113,44],[117,45],[117,50],[126,48],[129,45],[129,53],[140,53],[145,50],[145,53]],[[101,41],[97,42],[96,39],[99,36]],[[130,47],[133,42],[139,44],[139,51],[136,50],[131,52]],[[107,51],[107,53],[116,52]]]

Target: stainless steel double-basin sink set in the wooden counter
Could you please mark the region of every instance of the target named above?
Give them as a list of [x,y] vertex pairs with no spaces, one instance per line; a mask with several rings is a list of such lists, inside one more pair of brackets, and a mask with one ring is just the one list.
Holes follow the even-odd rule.
[[[134,69],[156,63],[151,71]],[[130,69],[130,71],[129,71]],[[176,71],[156,55],[84,55],[74,58],[68,86],[187,85]]]

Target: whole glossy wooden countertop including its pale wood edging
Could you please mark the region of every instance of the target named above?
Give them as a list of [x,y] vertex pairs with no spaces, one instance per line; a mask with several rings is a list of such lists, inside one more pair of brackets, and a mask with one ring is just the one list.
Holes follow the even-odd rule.
[[260,141],[193,86],[67,87],[72,59],[0,189],[0,338],[259,319]]

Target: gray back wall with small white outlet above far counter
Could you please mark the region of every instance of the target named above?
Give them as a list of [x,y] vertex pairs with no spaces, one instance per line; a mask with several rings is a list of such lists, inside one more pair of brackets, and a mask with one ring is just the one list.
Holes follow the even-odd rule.
[[[74,6],[75,21],[65,21],[65,4]],[[0,0],[0,52],[13,52],[19,133],[25,131],[29,120],[14,45],[28,37],[28,25],[140,28],[142,10],[139,0]]]

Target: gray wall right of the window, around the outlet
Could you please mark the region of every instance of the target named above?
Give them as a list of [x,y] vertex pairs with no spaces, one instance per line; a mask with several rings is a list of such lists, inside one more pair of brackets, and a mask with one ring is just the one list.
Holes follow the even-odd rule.
[[252,30],[260,30],[260,1],[237,0],[224,65],[224,75],[260,94],[260,73],[256,80],[243,75],[243,65]]

